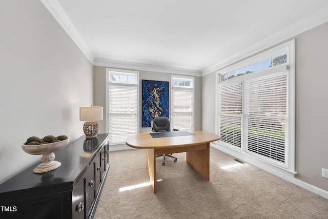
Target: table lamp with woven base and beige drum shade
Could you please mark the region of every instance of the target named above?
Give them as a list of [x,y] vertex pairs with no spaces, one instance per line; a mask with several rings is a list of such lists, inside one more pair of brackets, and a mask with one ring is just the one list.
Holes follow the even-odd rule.
[[103,107],[80,107],[80,121],[87,121],[83,126],[86,138],[97,137],[99,125],[97,121],[103,120]]

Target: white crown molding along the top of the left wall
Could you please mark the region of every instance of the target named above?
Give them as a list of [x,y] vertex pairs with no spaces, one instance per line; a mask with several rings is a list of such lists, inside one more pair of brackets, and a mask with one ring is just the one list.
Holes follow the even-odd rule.
[[69,18],[65,14],[64,10],[61,9],[57,1],[56,0],[40,0],[40,1],[52,14],[52,16],[56,19],[56,21],[60,24],[60,26],[64,28],[64,30],[72,38],[72,40],[78,46],[78,48],[87,56],[89,61],[93,64],[95,59],[94,55],[90,51],[89,47],[85,44],[83,39],[80,37],[80,35],[76,32]]

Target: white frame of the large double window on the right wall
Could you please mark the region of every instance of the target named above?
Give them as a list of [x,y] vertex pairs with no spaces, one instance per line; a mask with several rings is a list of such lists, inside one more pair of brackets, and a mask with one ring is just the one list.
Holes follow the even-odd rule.
[[[278,66],[273,66],[271,68],[258,70],[256,72],[253,72],[251,74],[242,75],[239,77],[231,78],[226,81],[221,82],[221,75],[234,71],[236,69],[243,68],[245,66],[252,65],[256,62],[265,60],[265,58],[270,58],[272,56],[275,56],[277,54],[283,54],[287,53],[287,62]],[[295,176],[297,172],[295,171],[295,39],[292,41],[283,43],[279,46],[276,46],[274,48],[271,48],[267,51],[261,52],[257,55],[254,55],[252,57],[249,57],[247,59],[244,59],[243,61],[237,62],[234,65],[231,65],[226,68],[222,68],[221,70],[216,72],[216,118],[215,118],[215,132],[218,133],[218,86],[219,84],[228,85],[230,83],[237,83],[241,81],[249,81],[251,79],[259,78],[264,75],[270,75],[276,71],[288,71],[287,75],[287,119],[288,119],[288,151],[286,152],[286,158],[288,159],[288,163],[286,165],[278,165],[275,162],[268,162],[265,158],[261,159],[257,156],[253,156],[251,153],[248,153],[246,151],[247,146],[245,145],[245,116],[244,116],[244,90],[242,90],[242,124],[241,129],[244,130],[241,133],[241,141],[242,147],[240,149],[236,149],[234,147],[230,147],[228,144],[224,144],[223,142],[216,142],[215,145],[219,146],[220,149],[223,149],[223,151],[226,151],[230,154],[234,154],[235,156],[243,159],[244,161],[250,161],[250,163],[257,164],[259,166],[265,167],[265,168],[271,168],[275,171],[278,171],[280,173],[284,173],[289,176]],[[221,84],[221,85],[222,85]],[[244,89],[244,86],[243,88]]]

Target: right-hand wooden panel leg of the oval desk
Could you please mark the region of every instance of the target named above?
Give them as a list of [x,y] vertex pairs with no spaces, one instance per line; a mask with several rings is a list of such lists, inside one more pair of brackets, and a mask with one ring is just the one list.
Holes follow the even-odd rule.
[[187,151],[187,163],[200,175],[210,181],[210,143],[203,150]]

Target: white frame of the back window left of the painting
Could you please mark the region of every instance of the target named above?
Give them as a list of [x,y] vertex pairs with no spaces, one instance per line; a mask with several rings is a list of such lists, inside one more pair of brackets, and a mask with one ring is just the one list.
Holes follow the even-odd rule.
[[[136,81],[135,83],[131,82],[118,82],[118,81],[113,81],[110,78],[111,73],[117,73],[119,75],[136,75]],[[109,86],[110,85],[115,85],[115,86],[129,86],[129,87],[136,87],[137,89],[137,98],[136,98],[136,105],[137,105],[137,123],[136,123],[136,134],[140,133],[140,107],[139,107],[139,99],[140,99],[140,89],[139,89],[139,71],[132,71],[132,70],[124,70],[124,69],[112,69],[112,68],[106,68],[106,132],[109,133]],[[121,148],[121,147],[126,147],[125,143],[121,144],[112,144],[115,148]],[[117,149],[115,149],[117,150]]]

